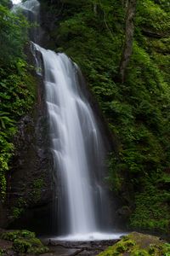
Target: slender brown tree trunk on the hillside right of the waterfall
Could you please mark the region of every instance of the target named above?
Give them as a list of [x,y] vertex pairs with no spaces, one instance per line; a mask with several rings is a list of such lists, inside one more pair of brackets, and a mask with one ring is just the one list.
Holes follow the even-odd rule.
[[136,11],[137,0],[127,1],[127,14],[126,14],[126,28],[125,28],[125,44],[122,51],[122,59],[120,63],[120,77],[122,83],[125,81],[125,73],[127,69],[128,62],[133,51],[133,32],[134,32],[134,15]]

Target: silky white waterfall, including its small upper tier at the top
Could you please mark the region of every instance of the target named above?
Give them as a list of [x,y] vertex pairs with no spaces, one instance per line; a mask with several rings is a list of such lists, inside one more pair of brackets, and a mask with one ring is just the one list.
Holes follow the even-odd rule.
[[[20,3],[21,8],[33,10],[34,15],[37,6],[37,0]],[[75,240],[90,240],[92,236],[115,238],[116,235],[99,235],[107,231],[109,214],[101,185],[105,148],[94,112],[83,93],[82,74],[65,54],[33,43],[31,50],[46,91],[54,156],[54,230]]]

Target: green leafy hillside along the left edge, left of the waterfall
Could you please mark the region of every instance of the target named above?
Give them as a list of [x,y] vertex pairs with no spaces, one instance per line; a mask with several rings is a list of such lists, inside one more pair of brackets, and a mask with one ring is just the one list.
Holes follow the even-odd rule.
[[0,3],[0,201],[5,200],[6,175],[14,154],[17,122],[34,102],[33,78],[28,73],[24,48],[28,24],[22,15],[9,11],[9,1]]

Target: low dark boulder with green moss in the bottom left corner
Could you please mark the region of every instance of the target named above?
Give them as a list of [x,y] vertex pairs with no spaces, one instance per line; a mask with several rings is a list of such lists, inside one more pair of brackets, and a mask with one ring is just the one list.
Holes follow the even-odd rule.
[[[47,253],[48,247],[44,247],[34,232],[28,230],[14,230],[3,232],[1,238],[13,241],[12,248],[16,253]],[[1,254],[0,254],[1,255]]]

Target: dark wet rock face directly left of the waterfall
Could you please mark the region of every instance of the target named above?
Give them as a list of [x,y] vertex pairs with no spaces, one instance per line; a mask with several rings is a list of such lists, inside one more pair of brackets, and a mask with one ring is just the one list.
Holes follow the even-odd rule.
[[[49,150],[48,118],[42,90],[34,113],[20,120],[14,137],[14,159],[8,175],[8,224],[39,230],[50,218],[53,161]],[[35,220],[38,219],[38,221]],[[45,229],[45,227],[44,227]],[[41,230],[42,232],[42,230]]]

